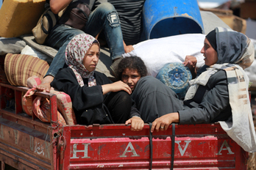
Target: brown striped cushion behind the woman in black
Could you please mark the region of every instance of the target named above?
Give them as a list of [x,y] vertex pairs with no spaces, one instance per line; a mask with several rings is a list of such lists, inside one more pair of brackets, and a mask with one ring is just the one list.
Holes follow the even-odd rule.
[[4,72],[14,86],[27,86],[26,80],[32,75],[42,80],[48,69],[49,64],[35,56],[7,53],[4,59]]

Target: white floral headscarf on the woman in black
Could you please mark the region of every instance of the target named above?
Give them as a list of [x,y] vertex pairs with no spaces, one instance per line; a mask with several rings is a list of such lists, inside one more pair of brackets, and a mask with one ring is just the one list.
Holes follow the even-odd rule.
[[85,54],[93,43],[99,45],[98,40],[90,34],[78,34],[72,38],[65,48],[65,64],[74,71],[80,86],[85,85],[82,78],[88,78],[88,86],[96,86],[96,79],[93,76],[94,71],[89,72],[83,64]]

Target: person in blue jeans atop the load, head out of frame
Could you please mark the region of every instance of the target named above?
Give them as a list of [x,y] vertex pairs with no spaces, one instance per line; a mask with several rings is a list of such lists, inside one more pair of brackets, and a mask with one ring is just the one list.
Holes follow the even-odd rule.
[[[50,0],[49,4],[51,11],[57,14],[72,0]],[[89,7],[93,7],[95,0],[88,0]],[[110,47],[110,57],[115,60],[121,57],[124,53],[123,36],[121,33],[121,26],[118,18],[118,14],[115,11],[115,7],[112,4],[103,1],[90,12],[88,22],[84,30],[74,29],[71,26],[65,24],[57,24],[53,30],[51,30],[47,37],[47,44],[52,48],[59,49],[56,56],[47,71],[42,83],[36,88],[39,91],[49,92],[50,83],[60,68],[65,64],[65,47],[68,42],[77,34],[87,33],[96,37],[99,32],[104,32],[107,43]]]

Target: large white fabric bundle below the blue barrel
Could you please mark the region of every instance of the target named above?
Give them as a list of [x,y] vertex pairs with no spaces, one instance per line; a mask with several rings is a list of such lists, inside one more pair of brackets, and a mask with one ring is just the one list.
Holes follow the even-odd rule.
[[185,56],[197,58],[196,67],[205,64],[204,56],[200,52],[204,46],[205,34],[181,34],[146,40],[133,45],[134,51],[123,54],[139,56],[145,62],[149,75],[156,76],[160,69],[171,62],[184,62]]

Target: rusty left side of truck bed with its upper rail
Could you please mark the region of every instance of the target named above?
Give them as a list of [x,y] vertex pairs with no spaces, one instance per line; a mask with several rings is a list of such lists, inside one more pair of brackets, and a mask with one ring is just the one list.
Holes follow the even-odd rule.
[[[16,169],[54,169],[57,162],[56,95],[35,92],[35,97],[50,101],[51,123],[41,122],[35,115],[24,113],[23,95],[29,88],[0,84],[0,161]],[[14,93],[14,108],[7,108],[6,92]]]

